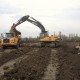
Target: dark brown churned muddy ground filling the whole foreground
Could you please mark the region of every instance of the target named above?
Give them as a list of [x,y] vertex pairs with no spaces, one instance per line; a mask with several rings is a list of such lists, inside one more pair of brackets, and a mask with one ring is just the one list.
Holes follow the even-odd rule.
[[[58,48],[26,46],[18,50],[0,52],[0,67],[11,60],[13,69],[0,80],[80,80],[80,54],[74,42],[63,42]],[[33,45],[33,44],[31,44]]]

